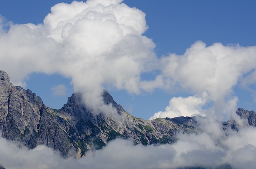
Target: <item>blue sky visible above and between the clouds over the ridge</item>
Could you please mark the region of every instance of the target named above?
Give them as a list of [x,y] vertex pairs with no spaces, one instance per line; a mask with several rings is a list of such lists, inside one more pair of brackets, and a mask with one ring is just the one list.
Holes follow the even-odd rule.
[[[4,0],[0,2],[0,14],[6,18],[5,22],[37,25],[42,24],[45,16],[51,12],[50,8],[60,2],[71,3],[72,1]],[[154,53],[158,58],[163,57],[162,55],[168,56],[170,53],[183,55],[186,49],[190,48],[196,41],[202,41],[206,43],[206,46],[211,46],[217,42],[224,46],[232,46],[230,44],[233,46],[239,44],[244,47],[256,45],[256,2],[253,0],[124,0],[123,3],[130,7],[136,7],[146,14],[148,29],[144,31],[143,35],[152,39],[156,45]],[[248,58],[253,57],[256,56],[253,54],[248,56]],[[256,110],[256,103],[254,102],[255,82],[253,80],[252,84],[247,82],[243,85],[243,78],[241,78],[241,76],[246,78],[247,75],[250,75],[247,76],[247,80],[254,77],[255,68],[253,66],[248,68],[248,71],[242,72],[242,75],[238,73],[238,80],[231,85],[231,91],[224,90],[224,92],[228,91],[223,96],[224,101],[228,103],[228,100],[236,100],[234,96],[237,96],[239,101],[237,101],[236,107]],[[2,68],[0,67],[0,69]],[[141,73],[140,77],[142,80],[154,80],[159,74],[161,74],[159,69],[155,69]],[[31,89],[32,92],[41,96],[44,103],[52,108],[61,108],[66,103],[67,97],[74,92],[70,81],[71,77],[64,78],[63,75],[52,74],[50,71],[48,74],[34,71],[24,80],[25,88]],[[182,84],[184,81],[186,82],[186,78],[185,80],[178,78],[177,81]],[[54,95],[54,86],[58,85],[66,86],[64,88],[66,92],[55,93]],[[192,83],[192,85],[194,84]],[[103,86],[105,85],[103,84]],[[142,90],[139,94],[127,92],[126,88],[117,89],[108,85],[105,87],[112,94],[114,100],[124,106],[125,110],[136,117],[148,119],[154,113],[164,111],[169,100],[173,97],[189,98],[189,96],[193,96],[199,98],[203,95],[203,91],[201,92],[198,88],[192,87],[191,89],[186,85],[181,85],[176,89],[176,86],[170,86],[171,90],[166,89],[166,87],[154,88],[152,91]],[[211,93],[210,90],[208,92]],[[212,106],[211,100],[214,100],[212,97],[199,103],[200,105],[204,104],[201,108],[192,108],[192,113],[210,108]],[[176,106],[169,105],[169,107],[170,111],[175,112]]]

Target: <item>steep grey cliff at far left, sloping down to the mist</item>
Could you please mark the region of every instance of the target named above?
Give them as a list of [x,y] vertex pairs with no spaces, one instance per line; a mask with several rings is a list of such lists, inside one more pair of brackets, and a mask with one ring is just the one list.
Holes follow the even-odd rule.
[[[76,145],[58,124],[58,111],[48,108],[31,90],[13,86],[9,76],[0,71],[0,130],[7,140],[19,141],[29,148],[44,144],[58,149],[63,156]],[[68,129],[72,124],[62,122]],[[70,127],[70,128],[69,128]]]

